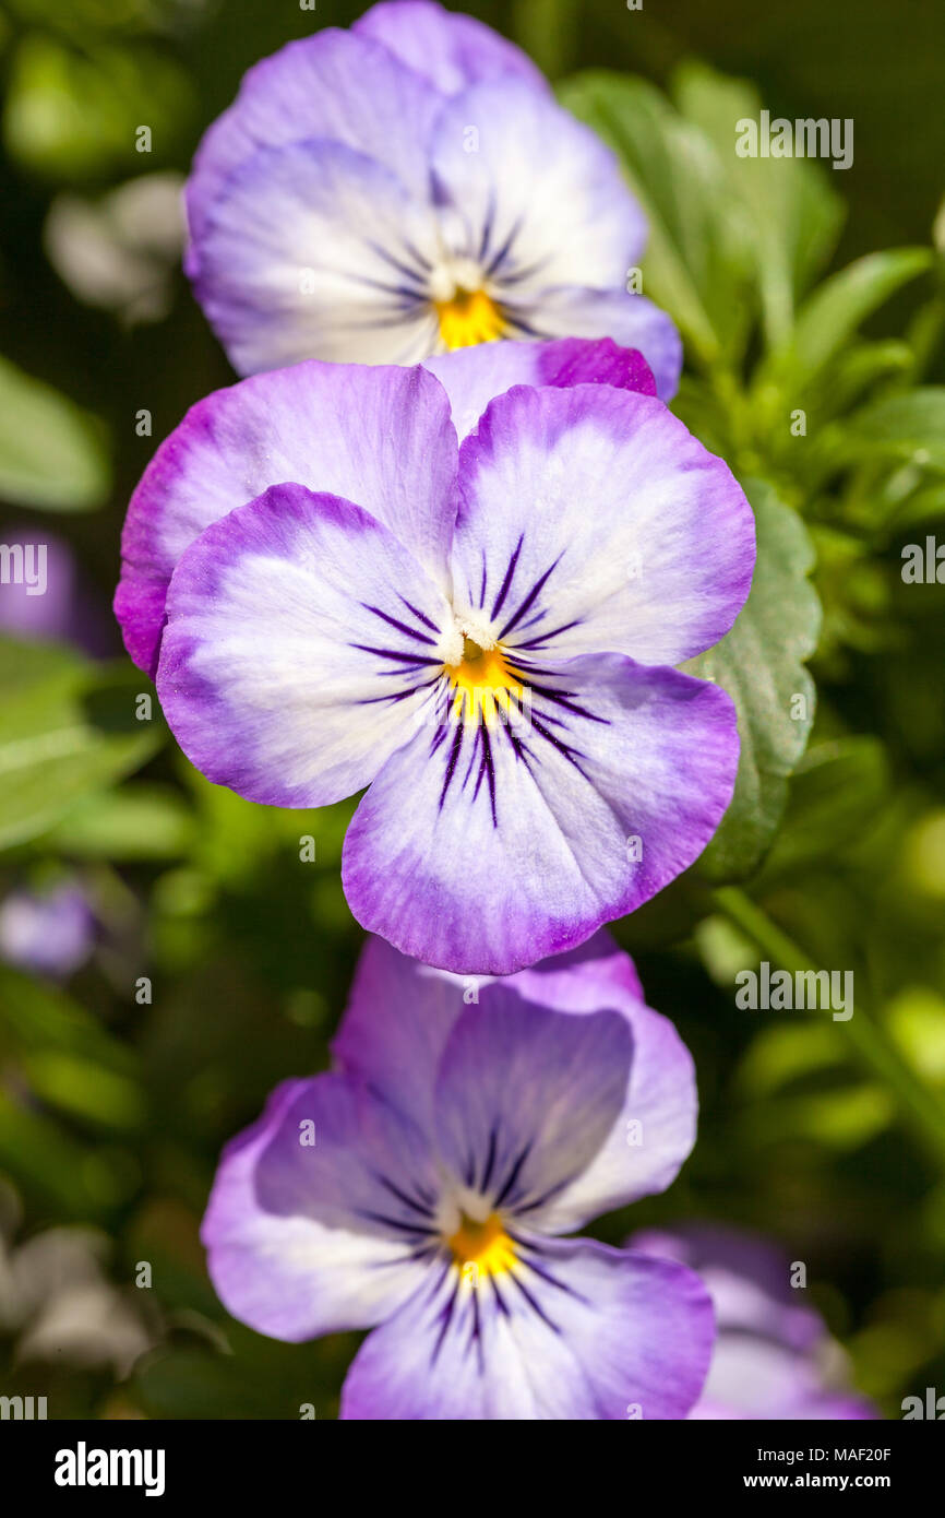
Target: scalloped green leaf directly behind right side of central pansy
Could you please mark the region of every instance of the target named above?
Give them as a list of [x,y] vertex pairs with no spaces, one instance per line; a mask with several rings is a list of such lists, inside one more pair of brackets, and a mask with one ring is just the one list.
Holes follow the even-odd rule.
[[807,580],[813,545],[799,516],[769,484],[754,480],[745,490],[758,530],[751,595],[722,642],[687,665],[690,674],[728,691],[739,715],[734,797],[699,861],[701,873],[714,882],[745,879],[771,846],[815,710],[813,680],[804,668],[821,627],[821,603]]

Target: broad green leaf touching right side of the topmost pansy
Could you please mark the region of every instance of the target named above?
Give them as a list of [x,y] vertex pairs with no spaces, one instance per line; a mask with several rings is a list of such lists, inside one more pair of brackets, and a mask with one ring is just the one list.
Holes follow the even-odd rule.
[[751,316],[745,235],[705,135],[643,79],[581,73],[560,99],[616,150],[646,211],[645,293],[704,364],[734,355]]

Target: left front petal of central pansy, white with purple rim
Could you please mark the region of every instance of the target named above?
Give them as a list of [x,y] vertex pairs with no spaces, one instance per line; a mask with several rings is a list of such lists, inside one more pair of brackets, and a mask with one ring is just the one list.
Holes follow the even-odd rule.
[[359,791],[440,679],[446,601],[373,516],[303,486],[208,527],[167,606],[164,715],[193,764],[250,802]]

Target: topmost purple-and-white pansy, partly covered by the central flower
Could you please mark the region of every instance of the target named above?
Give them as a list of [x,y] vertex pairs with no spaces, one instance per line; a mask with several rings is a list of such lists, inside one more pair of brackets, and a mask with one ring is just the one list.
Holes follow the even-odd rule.
[[519,49],[428,0],[256,64],[187,211],[187,267],[240,373],[613,337],[675,392],[678,334],[626,291],[646,223],[614,155]]

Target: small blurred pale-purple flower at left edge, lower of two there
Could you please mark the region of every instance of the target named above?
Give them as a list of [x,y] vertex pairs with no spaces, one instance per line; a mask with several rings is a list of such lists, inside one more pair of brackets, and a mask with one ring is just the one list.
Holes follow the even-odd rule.
[[96,944],[85,891],[68,880],[47,891],[20,888],[0,902],[0,959],[30,975],[65,981]]

